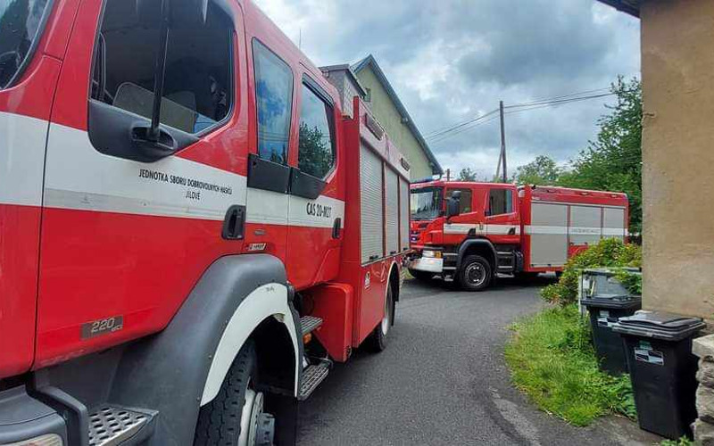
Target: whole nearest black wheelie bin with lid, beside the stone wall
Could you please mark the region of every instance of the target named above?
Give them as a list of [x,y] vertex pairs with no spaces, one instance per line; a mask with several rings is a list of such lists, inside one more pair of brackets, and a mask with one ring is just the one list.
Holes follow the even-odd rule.
[[691,434],[697,417],[692,339],[704,326],[701,318],[643,310],[613,326],[625,343],[637,418],[645,431],[672,440]]

